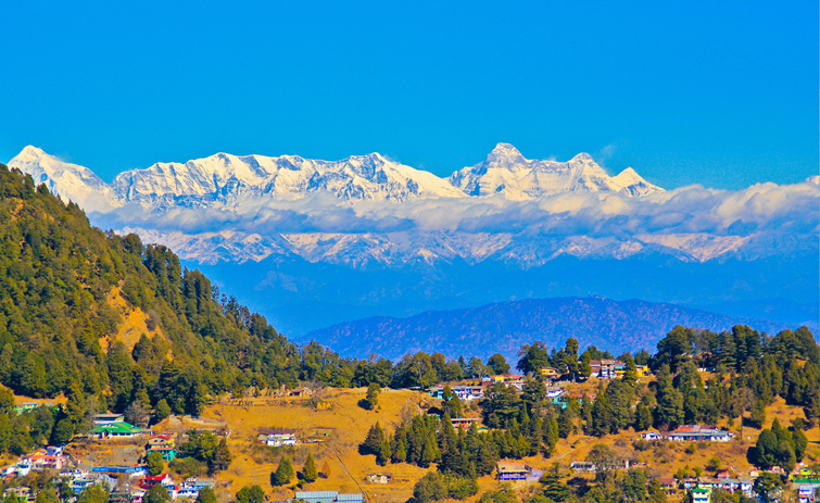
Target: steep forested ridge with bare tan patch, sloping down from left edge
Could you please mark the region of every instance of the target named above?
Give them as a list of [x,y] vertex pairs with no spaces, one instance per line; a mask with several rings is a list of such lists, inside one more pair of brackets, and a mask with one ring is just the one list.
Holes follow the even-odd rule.
[[[123,299],[150,328],[130,347],[117,337]],[[198,413],[210,392],[294,385],[301,370],[297,345],[168,249],[93,228],[0,165],[0,383],[80,408],[164,399]]]

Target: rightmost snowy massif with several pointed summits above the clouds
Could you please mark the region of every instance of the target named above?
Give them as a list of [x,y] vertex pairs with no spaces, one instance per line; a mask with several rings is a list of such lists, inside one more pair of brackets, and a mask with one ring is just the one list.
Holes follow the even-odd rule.
[[499,143],[483,163],[465,167],[449,180],[469,196],[502,193],[508,199],[568,191],[610,191],[627,196],[663,191],[632,168],[610,177],[588,153],[579,153],[568,162],[528,160],[509,143]]

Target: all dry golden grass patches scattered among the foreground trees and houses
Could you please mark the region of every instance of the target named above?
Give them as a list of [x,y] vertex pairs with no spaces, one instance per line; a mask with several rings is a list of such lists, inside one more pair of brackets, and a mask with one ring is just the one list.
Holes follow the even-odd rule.
[[[597,383],[591,380],[583,385],[571,385],[569,391],[571,393],[586,392],[592,395],[596,387]],[[240,488],[252,485],[262,487],[268,500],[282,501],[292,498],[297,480],[294,479],[291,486],[275,489],[269,483],[270,473],[276,470],[281,455],[288,455],[293,461],[294,468],[300,470],[308,452],[316,460],[319,471],[327,465],[329,476],[303,486],[302,490],[362,492],[367,495],[370,503],[404,502],[412,496],[414,483],[425,473],[436,468],[424,469],[404,463],[378,466],[374,456],[358,454],[358,444],[376,422],[379,422],[387,431],[392,431],[403,418],[417,414],[429,405],[437,404],[438,401],[418,391],[384,389],[379,395],[377,410],[366,411],[357,404],[365,398],[365,393],[364,388],[326,388],[310,399],[273,397],[245,398],[241,401],[226,399],[210,405],[201,418],[172,416],[155,425],[153,430],[181,433],[197,428],[228,432],[234,461],[227,470],[217,475],[217,495],[220,502],[232,500]],[[35,400],[28,397],[15,397],[16,403],[49,401],[64,403],[65,398],[61,395],[52,400]],[[766,413],[767,426],[771,425],[775,417],[783,426],[789,426],[796,417],[803,417],[802,408],[790,407],[780,398],[775,399]],[[478,411],[470,410],[467,415],[478,415]],[[719,426],[729,425],[723,420]],[[256,436],[260,430],[272,428],[293,429],[300,439],[314,438],[323,441],[283,449],[258,445]],[[760,430],[746,427],[741,437],[740,425],[736,420],[730,429],[737,435],[736,440],[729,443],[701,442],[694,445],[694,452],[692,449],[687,452],[689,443],[638,443],[634,440],[639,435],[632,430],[601,439],[584,437],[577,432],[568,439],[560,440],[552,457],[533,456],[523,460],[523,463],[538,469],[545,469],[557,462],[566,473],[571,462],[583,461],[595,444],[603,443],[623,458],[645,463],[643,466],[657,476],[672,476],[679,468],[686,468],[693,473],[695,467],[705,468],[712,457],[720,460],[723,467],[734,467],[737,476],[748,476],[752,467],[746,461],[746,451],[754,445]],[[816,427],[806,435],[810,441],[806,461],[817,463],[820,461],[820,429]],[[112,450],[109,456],[104,448],[105,445],[97,448],[77,445],[75,454],[89,462],[123,461],[115,455],[119,451]],[[389,485],[367,483],[365,477],[373,473],[391,474],[392,481]],[[519,482],[513,487],[522,493],[531,493],[538,489],[538,486],[533,482]],[[493,477],[487,476],[479,479],[479,487],[480,495],[488,490],[496,489],[499,482]],[[478,495],[474,498],[474,500],[477,499]]]

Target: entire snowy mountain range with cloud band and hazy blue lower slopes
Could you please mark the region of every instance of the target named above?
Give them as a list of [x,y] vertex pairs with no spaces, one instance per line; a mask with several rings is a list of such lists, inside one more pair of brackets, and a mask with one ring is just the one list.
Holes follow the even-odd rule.
[[169,247],[291,334],[559,295],[817,304],[817,176],[664,190],[588,154],[528,160],[507,143],[447,178],[378,153],[218,153],[111,184],[35,147],[8,165],[94,225]]

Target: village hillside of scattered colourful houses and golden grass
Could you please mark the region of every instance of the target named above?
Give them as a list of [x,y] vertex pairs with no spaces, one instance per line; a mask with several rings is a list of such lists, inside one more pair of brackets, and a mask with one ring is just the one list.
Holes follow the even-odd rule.
[[[390,400],[390,405],[395,405],[396,398],[404,402],[399,416],[407,415],[408,411],[434,417],[439,420],[446,418],[453,428],[464,435],[470,429],[476,432],[487,433],[490,428],[481,414],[481,403],[489,400],[493,392],[504,388],[514,390],[517,395],[526,393],[528,385],[538,381],[544,385],[543,401],[547,406],[564,411],[572,406],[573,402],[594,398],[607,381],[623,379],[625,375],[632,373],[640,383],[648,385],[656,381],[656,376],[646,365],[628,365],[615,359],[601,359],[590,361],[591,373],[589,377],[572,377],[555,367],[542,367],[529,375],[520,374],[494,374],[481,376],[478,379],[466,379],[456,382],[441,382],[427,389],[417,390],[370,390],[366,398],[357,400],[353,411],[365,418],[376,415],[379,420],[393,425],[400,419],[396,414],[386,417],[371,410],[366,402],[373,400]],[[628,367],[631,367],[628,369]],[[714,368],[698,368],[704,377],[709,376]],[[364,431],[345,430],[343,425],[330,424],[325,428],[305,428],[310,420],[283,420],[280,414],[282,408],[297,416],[320,416],[323,413],[332,417],[335,408],[341,406],[341,402],[351,402],[352,397],[359,397],[364,389],[355,390],[352,394],[341,393],[339,390],[313,388],[310,385],[300,387],[298,390],[249,390],[241,397],[223,398],[209,406],[202,419],[192,417],[168,417],[159,424],[140,427],[131,425],[124,419],[123,414],[97,414],[92,417],[93,426],[85,435],[78,435],[71,442],[60,447],[45,447],[20,456],[13,463],[0,469],[3,480],[4,496],[14,496],[27,502],[39,502],[36,483],[30,483],[38,476],[49,474],[60,480],[58,496],[61,501],[71,501],[74,498],[83,500],[84,491],[89,491],[91,486],[100,486],[109,494],[109,501],[130,503],[152,503],[153,492],[163,492],[171,500],[195,500],[204,501],[200,493],[206,489],[206,498],[215,496],[218,501],[234,499],[244,488],[258,486],[263,489],[264,501],[306,501],[316,503],[336,502],[377,502],[377,501],[404,501],[414,494],[414,485],[418,486],[420,475],[407,478],[406,474],[400,475],[396,468],[405,463],[394,465],[391,463],[376,464],[374,456],[362,455],[361,445],[353,445],[346,439],[361,437],[358,442],[365,443]],[[381,397],[381,398],[379,398]],[[447,402],[461,402],[461,411],[450,417]],[[363,402],[364,406],[363,406]],[[387,403],[384,404],[387,406]],[[20,414],[31,413],[42,407],[60,407],[54,403],[42,405],[28,402],[16,407]],[[349,404],[350,406],[350,404]],[[379,405],[373,408],[381,408]],[[257,413],[258,410],[260,412]],[[262,413],[262,417],[260,417]],[[799,415],[792,407],[783,404],[768,407],[767,414],[774,418],[794,420]],[[796,417],[795,417],[796,416]],[[209,419],[210,418],[210,419]],[[242,425],[267,425],[262,428]],[[387,420],[386,420],[387,419]],[[276,468],[274,460],[281,457],[301,458],[305,452],[326,463],[324,469],[331,471],[325,458],[328,450],[325,443],[332,444],[338,463],[342,465],[339,471],[346,471],[342,477],[344,483],[332,487],[329,482],[338,480],[339,476],[317,473],[317,477],[307,481],[304,479],[290,480],[282,487],[274,487],[269,492],[270,483],[266,473],[261,477],[252,474],[242,474],[242,468],[230,464],[226,471],[209,474],[199,471],[197,475],[186,473],[179,465],[174,464],[180,455],[180,444],[188,441],[190,431],[186,429],[186,422],[199,423],[198,431],[213,431],[215,437],[227,440],[230,445],[232,457],[241,456],[240,452],[254,452],[258,455],[264,452],[268,463],[260,463],[267,466],[267,473],[273,474]],[[190,424],[193,424],[190,423]],[[724,422],[723,422],[724,423]],[[796,422],[799,424],[799,419]],[[366,424],[366,422],[365,422]],[[249,429],[250,427],[250,429]],[[341,431],[344,431],[342,435]],[[613,440],[617,445],[618,453],[609,452],[608,456],[596,457],[593,444],[597,444],[594,437],[588,437],[583,432],[569,435],[562,439],[555,447],[551,456],[539,453],[535,456],[522,456],[516,458],[499,458],[493,464],[492,471],[479,478],[477,489],[483,490],[484,494],[508,491],[512,494],[525,496],[538,491],[551,478],[551,474],[559,474],[559,478],[569,477],[575,483],[589,485],[608,477],[611,473],[642,473],[652,501],[741,501],[737,496],[747,499],[762,498],[766,501],[779,501],[789,494],[796,496],[802,503],[817,500],[820,489],[820,473],[818,473],[818,428],[807,430],[811,438],[811,445],[802,462],[795,463],[789,473],[780,466],[757,467],[746,462],[746,452],[754,445],[756,436],[760,432],[756,428],[739,429],[737,425],[680,425],[676,428],[655,429],[636,432],[633,428],[626,435],[618,436]],[[254,435],[255,433],[255,435]],[[198,433],[199,435],[199,433]],[[343,437],[343,438],[340,438]],[[601,440],[608,440],[609,436]],[[345,444],[346,443],[346,444]],[[608,442],[603,442],[608,443]],[[669,444],[670,447],[665,447]],[[731,445],[731,454],[720,445]],[[737,449],[740,448],[740,449]],[[357,452],[351,452],[357,449]],[[99,455],[103,451],[110,454]],[[184,448],[185,450],[185,448]],[[269,450],[269,451],[268,451]],[[128,452],[130,456],[122,456],[114,462],[114,452]],[[346,452],[344,452],[346,451]],[[681,451],[681,460],[691,458],[685,463],[685,468],[680,462],[669,463],[668,457],[652,455],[653,452]],[[706,466],[697,466],[697,451],[715,454]],[[342,456],[338,453],[344,452]],[[629,454],[621,454],[628,452]],[[97,453],[97,455],[94,455]],[[154,454],[152,454],[154,453]],[[277,453],[279,453],[277,455]],[[321,453],[321,455],[319,454]],[[646,455],[646,454],[649,455]],[[736,453],[736,454],[734,454]],[[185,453],[184,453],[185,454]],[[156,460],[149,461],[149,456]],[[344,461],[342,461],[344,458]],[[337,462],[337,460],[333,460]],[[555,460],[555,461],[553,461]],[[335,463],[336,464],[336,463]],[[159,465],[159,466],[157,466]],[[256,463],[244,465],[249,471],[257,471],[261,466]],[[362,468],[367,468],[364,473]],[[764,469],[766,468],[766,469]],[[338,469],[338,468],[337,468]],[[629,471],[632,470],[632,471]],[[420,470],[425,474],[425,470]],[[238,477],[234,477],[236,474]],[[545,475],[546,474],[546,475]],[[301,473],[300,473],[300,476]],[[783,480],[778,485],[775,492],[761,495],[758,480],[774,477]],[[404,480],[401,480],[404,478]],[[553,477],[555,478],[555,477]],[[353,479],[351,483],[351,480]],[[241,480],[248,483],[238,487]],[[292,482],[299,482],[293,486]],[[583,481],[583,482],[581,482]],[[28,486],[26,486],[28,483]],[[287,488],[292,489],[287,489]],[[401,488],[401,489],[400,489]],[[398,490],[396,490],[398,489]],[[65,491],[63,493],[62,491]],[[404,494],[404,495],[401,495]],[[479,491],[475,491],[478,498]],[[717,495],[717,498],[716,498]],[[526,498],[526,496],[525,496]],[[724,498],[734,498],[726,500]],[[416,496],[418,501],[418,496]],[[786,501],[784,500],[784,501]],[[11,501],[11,500],[4,500]],[[562,500],[550,500],[562,501]]]

